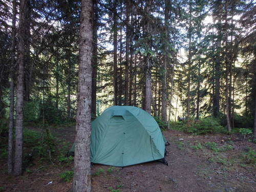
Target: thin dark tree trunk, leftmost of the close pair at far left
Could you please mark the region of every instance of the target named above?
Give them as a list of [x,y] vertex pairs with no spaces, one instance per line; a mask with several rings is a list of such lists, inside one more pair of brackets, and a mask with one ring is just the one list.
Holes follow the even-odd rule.
[[10,114],[8,136],[8,174],[13,172],[13,114],[14,114],[14,66],[15,66],[15,34],[16,34],[16,0],[12,1],[12,44],[11,44],[11,70],[10,70]]

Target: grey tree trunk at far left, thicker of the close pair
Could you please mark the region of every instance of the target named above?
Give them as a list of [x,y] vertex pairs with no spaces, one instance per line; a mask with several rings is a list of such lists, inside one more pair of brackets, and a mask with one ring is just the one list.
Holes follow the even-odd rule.
[[23,109],[24,109],[24,56],[25,56],[25,15],[27,1],[21,0],[19,7],[18,31],[18,77],[16,94],[16,131],[15,131],[15,162],[14,174],[22,174],[23,158]]

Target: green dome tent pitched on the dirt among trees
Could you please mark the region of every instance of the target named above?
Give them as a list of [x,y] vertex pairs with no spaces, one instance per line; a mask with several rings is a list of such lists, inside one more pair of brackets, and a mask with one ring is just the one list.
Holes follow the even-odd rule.
[[[111,106],[92,122],[91,162],[129,166],[164,160],[165,142],[147,112],[135,106]],[[70,152],[74,153],[74,145]]]

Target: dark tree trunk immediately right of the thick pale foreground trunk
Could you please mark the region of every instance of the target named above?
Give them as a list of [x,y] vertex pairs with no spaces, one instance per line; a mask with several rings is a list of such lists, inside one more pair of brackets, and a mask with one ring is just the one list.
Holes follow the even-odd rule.
[[92,59],[92,116],[96,118],[96,92],[97,92],[97,69],[98,69],[98,0],[94,0],[94,23],[93,23],[93,59]]

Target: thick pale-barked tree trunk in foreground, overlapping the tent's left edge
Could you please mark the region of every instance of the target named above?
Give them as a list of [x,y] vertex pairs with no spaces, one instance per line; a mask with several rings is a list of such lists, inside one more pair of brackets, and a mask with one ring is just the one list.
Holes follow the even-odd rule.
[[74,192],[91,191],[90,135],[92,103],[93,1],[81,1]]

